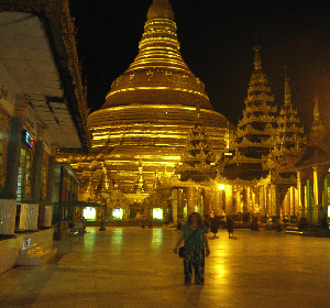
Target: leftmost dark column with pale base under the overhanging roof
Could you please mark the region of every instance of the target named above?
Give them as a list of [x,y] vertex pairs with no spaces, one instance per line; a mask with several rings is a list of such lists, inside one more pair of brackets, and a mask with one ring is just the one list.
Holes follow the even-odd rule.
[[16,216],[16,186],[20,167],[22,127],[29,100],[15,97],[14,114],[10,122],[7,148],[6,177],[0,195],[0,234],[13,235]]

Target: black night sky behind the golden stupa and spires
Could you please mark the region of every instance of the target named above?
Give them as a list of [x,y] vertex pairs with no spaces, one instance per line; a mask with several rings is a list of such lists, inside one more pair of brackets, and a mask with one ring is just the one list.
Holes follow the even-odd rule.
[[[264,74],[280,107],[285,66],[298,116],[310,129],[318,94],[330,113],[330,2],[169,0],[180,53],[206,85],[213,108],[237,124],[253,72],[256,43]],[[320,3],[322,2],[322,3]],[[112,81],[139,52],[152,0],[70,0],[88,103],[99,109]]]

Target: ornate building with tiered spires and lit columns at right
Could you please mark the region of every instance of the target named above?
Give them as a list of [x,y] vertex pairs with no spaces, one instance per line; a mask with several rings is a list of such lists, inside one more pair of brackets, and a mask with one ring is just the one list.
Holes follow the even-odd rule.
[[330,165],[328,129],[321,123],[318,101],[308,141],[292,105],[288,78],[284,105],[277,112],[262,73],[260,47],[254,51],[243,119],[220,163],[218,182],[227,187],[223,194],[229,198],[226,213],[244,222],[252,218],[266,222],[270,217],[277,224],[304,220],[319,226],[321,218],[328,217]]

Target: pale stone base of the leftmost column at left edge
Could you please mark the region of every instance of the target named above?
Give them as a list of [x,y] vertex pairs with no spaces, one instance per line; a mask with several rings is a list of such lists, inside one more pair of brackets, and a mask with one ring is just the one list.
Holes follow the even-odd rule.
[[16,199],[0,199],[0,234],[14,235]]

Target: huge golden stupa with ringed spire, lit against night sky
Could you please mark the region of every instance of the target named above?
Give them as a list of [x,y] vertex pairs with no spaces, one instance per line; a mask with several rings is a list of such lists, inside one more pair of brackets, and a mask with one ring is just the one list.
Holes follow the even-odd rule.
[[213,110],[204,82],[182,58],[169,2],[154,0],[146,18],[139,55],[113,81],[102,108],[88,117],[90,153],[70,160],[89,194],[100,186],[105,169],[110,186],[116,178],[125,194],[134,187],[151,191],[155,178],[169,178],[180,163],[197,106],[215,155],[224,147],[228,121]]

